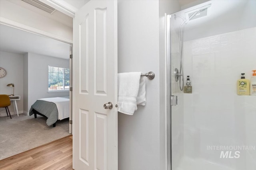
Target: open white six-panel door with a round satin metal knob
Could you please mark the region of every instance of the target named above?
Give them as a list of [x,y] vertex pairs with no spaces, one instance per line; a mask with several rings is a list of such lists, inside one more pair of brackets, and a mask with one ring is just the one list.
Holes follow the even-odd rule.
[[89,1],[73,32],[73,168],[117,170],[117,1]]

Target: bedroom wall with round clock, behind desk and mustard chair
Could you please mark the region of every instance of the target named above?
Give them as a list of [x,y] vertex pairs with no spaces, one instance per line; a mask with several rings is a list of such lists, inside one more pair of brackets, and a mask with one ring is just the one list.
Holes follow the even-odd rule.
[[[0,78],[0,94],[12,94],[13,89],[6,85],[14,83],[14,95],[20,96],[17,100],[18,111],[23,113],[23,55],[0,51],[0,67],[7,72],[5,77]],[[12,102],[8,108],[11,115],[14,114]],[[6,116],[4,108],[0,108],[0,116]]]

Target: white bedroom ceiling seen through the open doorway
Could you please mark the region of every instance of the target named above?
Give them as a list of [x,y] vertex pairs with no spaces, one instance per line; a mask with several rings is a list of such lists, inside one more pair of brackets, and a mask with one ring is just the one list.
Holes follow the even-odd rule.
[[0,51],[8,53],[36,53],[69,59],[70,45],[0,24]]

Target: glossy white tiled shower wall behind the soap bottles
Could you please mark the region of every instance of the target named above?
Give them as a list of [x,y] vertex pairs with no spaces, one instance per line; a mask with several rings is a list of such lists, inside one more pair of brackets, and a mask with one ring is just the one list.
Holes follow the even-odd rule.
[[183,58],[193,90],[184,94],[184,156],[252,170],[256,150],[220,159],[207,146],[256,145],[256,96],[236,94],[240,74],[250,79],[256,70],[256,27],[186,41]]

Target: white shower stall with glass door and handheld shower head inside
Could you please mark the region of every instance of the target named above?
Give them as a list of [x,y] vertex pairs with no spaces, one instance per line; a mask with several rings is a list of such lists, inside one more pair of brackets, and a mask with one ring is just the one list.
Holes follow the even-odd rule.
[[[211,0],[167,16],[170,168],[256,170],[256,1]],[[192,93],[184,93],[190,76]]]

